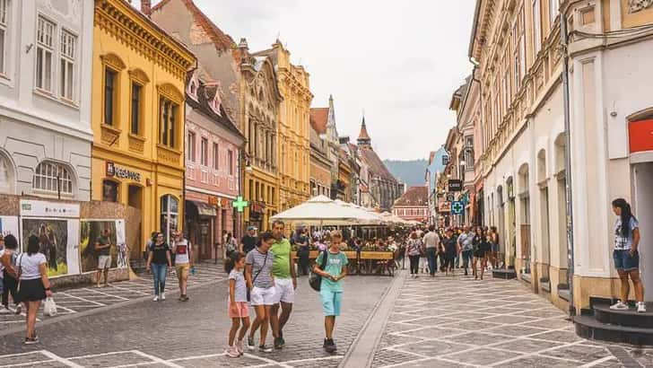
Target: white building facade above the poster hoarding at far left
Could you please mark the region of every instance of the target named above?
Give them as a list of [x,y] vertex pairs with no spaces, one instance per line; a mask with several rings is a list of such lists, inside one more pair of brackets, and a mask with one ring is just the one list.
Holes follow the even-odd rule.
[[0,0],[0,193],[90,199],[93,5]]

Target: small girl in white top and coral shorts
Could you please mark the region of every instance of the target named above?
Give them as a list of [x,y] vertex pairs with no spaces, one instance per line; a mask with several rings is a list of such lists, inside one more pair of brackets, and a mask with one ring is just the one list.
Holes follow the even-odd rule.
[[[225,354],[237,358],[244,354],[242,340],[249,329],[248,285],[245,281],[245,253],[237,251],[224,262],[229,274],[229,347]],[[236,340],[238,334],[238,340]]]

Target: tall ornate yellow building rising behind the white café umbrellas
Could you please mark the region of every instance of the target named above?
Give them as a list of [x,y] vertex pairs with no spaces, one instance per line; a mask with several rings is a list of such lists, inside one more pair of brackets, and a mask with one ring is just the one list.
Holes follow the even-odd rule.
[[279,109],[279,209],[284,211],[310,197],[310,102],[309,73],[291,64],[291,53],[278,39],[272,48],[255,55],[272,59],[277,85],[283,96]]

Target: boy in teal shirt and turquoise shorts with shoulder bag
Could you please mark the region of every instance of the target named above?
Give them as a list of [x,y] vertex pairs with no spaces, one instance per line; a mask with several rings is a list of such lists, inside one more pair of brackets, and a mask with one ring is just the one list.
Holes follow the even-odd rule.
[[313,270],[314,273],[322,276],[319,294],[325,314],[326,338],[324,339],[324,348],[327,353],[335,353],[337,350],[333,338],[335,317],[340,315],[340,304],[343,301],[343,283],[341,280],[344,276],[347,276],[346,266],[349,264],[347,256],[340,251],[341,241],[343,241],[341,232],[337,230],[331,232],[331,246],[326,251],[326,266],[321,269],[325,252],[320,252]]

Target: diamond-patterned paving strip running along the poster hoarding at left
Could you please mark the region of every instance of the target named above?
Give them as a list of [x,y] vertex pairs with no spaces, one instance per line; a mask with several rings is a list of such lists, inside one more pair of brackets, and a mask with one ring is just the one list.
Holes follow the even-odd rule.
[[[227,276],[222,270],[222,265],[213,263],[200,263],[196,265],[196,275],[188,277],[188,287],[205,285],[225,280]],[[43,306],[39,311],[38,321],[56,320],[69,314],[91,311],[98,308],[108,307],[114,304],[129,302],[144,297],[153,297],[152,293],[152,276],[141,275],[139,278],[131,281],[120,281],[112,283],[108,287],[96,288],[94,285],[76,287],[57,292],[55,289],[55,302],[57,303],[57,316],[45,317],[43,315]],[[166,289],[171,292],[178,291],[177,274],[174,267],[166,277]],[[176,298],[176,296],[175,296]],[[13,308],[13,306],[10,305]],[[0,336],[4,335],[13,327],[20,326],[24,328],[25,313],[15,315],[13,313],[0,313]]]

